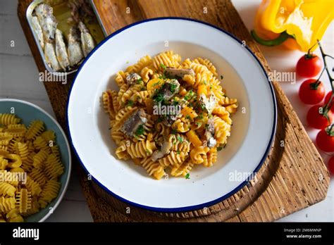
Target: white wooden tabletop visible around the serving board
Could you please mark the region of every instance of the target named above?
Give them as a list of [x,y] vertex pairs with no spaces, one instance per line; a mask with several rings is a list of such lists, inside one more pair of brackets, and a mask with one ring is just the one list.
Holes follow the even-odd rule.
[[[249,30],[253,29],[254,16],[260,2],[259,0],[233,0],[233,4]],[[0,1],[0,98],[15,98],[30,101],[41,106],[51,113],[51,115],[54,115],[44,85],[38,80],[37,67],[30,48],[27,45],[23,30],[21,30],[16,15],[16,6],[17,1]],[[332,23],[322,40],[323,48],[331,55],[334,54],[333,28],[334,25]],[[15,42],[15,46],[13,47],[11,47],[12,41]],[[295,64],[298,58],[302,56],[302,53],[299,51],[285,51],[280,48],[261,46],[261,50],[271,66],[271,69],[278,72],[295,71]],[[322,80],[326,83],[327,91],[329,91],[330,85],[326,75],[323,75]],[[307,126],[305,119],[309,106],[304,106],[304,104],[299,101],[297,95],[300,82],[302,82],[302,80],[297,80],[296,84],[285,82],[281,84],[281,86],[290,99],[295,111],[297,111],[299,118],[308,130],[311,139],[314,140],[317,130],[311,130]],[[328,161],[328,154],[321,153],[321,156],[323,156],[326,162]],[[333,191],[334,181],[332,179],[326,200],[297,213],[293,213],[279,221],[334,221]],[[90,215],[87,202],[82,194],[75,172],[72,172],[68,191],[63,201],[47,221],[92,221],[92,216]]]

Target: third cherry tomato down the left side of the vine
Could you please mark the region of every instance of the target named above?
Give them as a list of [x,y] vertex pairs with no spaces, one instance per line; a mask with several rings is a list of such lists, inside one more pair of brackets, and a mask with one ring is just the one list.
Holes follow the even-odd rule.
[[307,122],[311,127],[322,130],[333,122],[334,115],[331,111],[328,111],[327,115],[330,120],[330,122],[328,122],[327,118],[319,113],[319,108],[321,108],[321,106],[312,106],[309,109],[309,112],[307,113]]

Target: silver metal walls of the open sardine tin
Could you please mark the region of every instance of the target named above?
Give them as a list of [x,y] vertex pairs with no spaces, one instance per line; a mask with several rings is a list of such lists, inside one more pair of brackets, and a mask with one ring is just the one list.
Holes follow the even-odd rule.
[[[37,44],[37,48],[38,48],[38,50],[39,50],[39,54],[40,54],[41,57],[42,57],[42,60],[43,60],[43,63],[44,63],[44,67],[45,67],[45,69],[46,69],[49,73],[51,73],[51,74],[53,74],[53,75],[58,75],[58,76],[70,75],[70,74],[72,74],[72,73],[75,73],[75,72],[78,71],[78,68],[75,68],[75,69],[70,70],[70,71],[68,71],[68,72],[62,72],[62,71],[56,71],[56,70],[52,69],[52,68],[49,67],[49,65],[47,64],[47,60],[46,60],[46,58],[45,58],[45,56],[44,56],[44,51],[43,51],[43,49],[42,49],[41,44],[39,43],[39,39],[38,39],[37,34],[36,34],[36,32],[35,32],[35,30],[34,30],[34,28],[33,28],[33,25],[32,25],[32,13],[33,13],[33,11],[35,10],[36,6],[39,5],[39,4],[42,4],[43,2],[44,2],[44,0],[35,0],[35,1],[32,1],[32,3],[31,3],[31,4],[28,6],[28,8],[27,8],[26,18],[27,18],[27,23],[29,24],[30,30],[31,30],[31,32],[32,32],[32,35],[33,35],[33,37],[34,37],[34,39],[35,39],[35,43]],[[90,4],[92,5],[92,8],[93,8],[93,10],[94,10],[95,17],[97,18],[97,22],[99,23],[99,27],[101,28],[101,31],[103,32],[104,37],[106,37],[106,36],[107,36],[107,35],[106,35],[106,30],[104,29],[104,26],[103,26],[102,23],[101,23],[101,18],[100,18],[99,15],[97,14],[97,10],[96,10],[96,8],[95,8],[95,6],[94,6],[93,1],[91,1]]]

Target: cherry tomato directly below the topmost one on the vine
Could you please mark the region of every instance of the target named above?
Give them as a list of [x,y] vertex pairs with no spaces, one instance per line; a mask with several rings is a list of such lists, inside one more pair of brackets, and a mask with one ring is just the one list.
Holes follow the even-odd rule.
[[309,79],[302,83],[299,88],[299,98],[308,105],[315,105],[323,101],[325,97],[325,87],[320,81]]

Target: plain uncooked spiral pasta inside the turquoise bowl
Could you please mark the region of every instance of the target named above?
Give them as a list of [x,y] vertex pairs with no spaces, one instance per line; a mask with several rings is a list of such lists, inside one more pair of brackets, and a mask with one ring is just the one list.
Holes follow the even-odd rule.
[[[0,220],[23,222],[58,196],[63,173],[56,134],[44,122],[19,124],[14,114],[0,114]],[[18,177],[20,175],[20,177]]]

